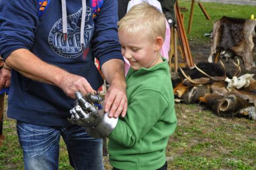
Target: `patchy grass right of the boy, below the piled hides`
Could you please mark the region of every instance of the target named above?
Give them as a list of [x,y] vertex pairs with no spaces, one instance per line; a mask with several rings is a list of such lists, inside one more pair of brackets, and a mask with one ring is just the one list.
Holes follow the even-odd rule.
[[178,127],[167,145],[169,169],[256,169],[255,120],[222,118],[176,104]]

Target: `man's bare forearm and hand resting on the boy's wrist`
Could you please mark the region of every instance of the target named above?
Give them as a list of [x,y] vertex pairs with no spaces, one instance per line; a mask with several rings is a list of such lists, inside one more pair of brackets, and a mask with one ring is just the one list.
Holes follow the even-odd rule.
[[121,116],[124,117],[127,111],[124,62],[119,59],[111,59],[102,65],[101,70],[110,84],[105,95],[105,112],[109,112],[109,117],[117,118],[121,113]]

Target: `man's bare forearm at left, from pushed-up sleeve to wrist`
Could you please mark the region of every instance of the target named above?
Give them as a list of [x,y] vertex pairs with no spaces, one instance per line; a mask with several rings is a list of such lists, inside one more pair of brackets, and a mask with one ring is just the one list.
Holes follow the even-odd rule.
[[67,71],[40,60],[26,49],[13,51],[5,62],[23,76],[52,85],[58,85],[61,78],[68,74]]

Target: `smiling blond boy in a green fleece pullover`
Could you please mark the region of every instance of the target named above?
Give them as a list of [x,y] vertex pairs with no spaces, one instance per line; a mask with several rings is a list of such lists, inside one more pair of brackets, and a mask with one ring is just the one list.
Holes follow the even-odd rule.
[[114,169],[167,169],[165,148],[177,126],[168,61],[160,54],[165,17],[148,3],[134,5],[118,22],[119,42],[131,68],[128,109],[108,136]]

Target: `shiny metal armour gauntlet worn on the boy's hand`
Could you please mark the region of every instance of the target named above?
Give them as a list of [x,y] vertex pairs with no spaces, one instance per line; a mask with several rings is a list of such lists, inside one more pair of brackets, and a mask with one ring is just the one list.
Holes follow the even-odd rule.
[[98,95],[88,93],[83,96],[81,92],[76,92],[76,102],[70,112],[68,121],[71,124],[84,126],[89,135],[95,138],[108,136],[116,127],[117,118],[109,118],[104,112],[103,99]]

